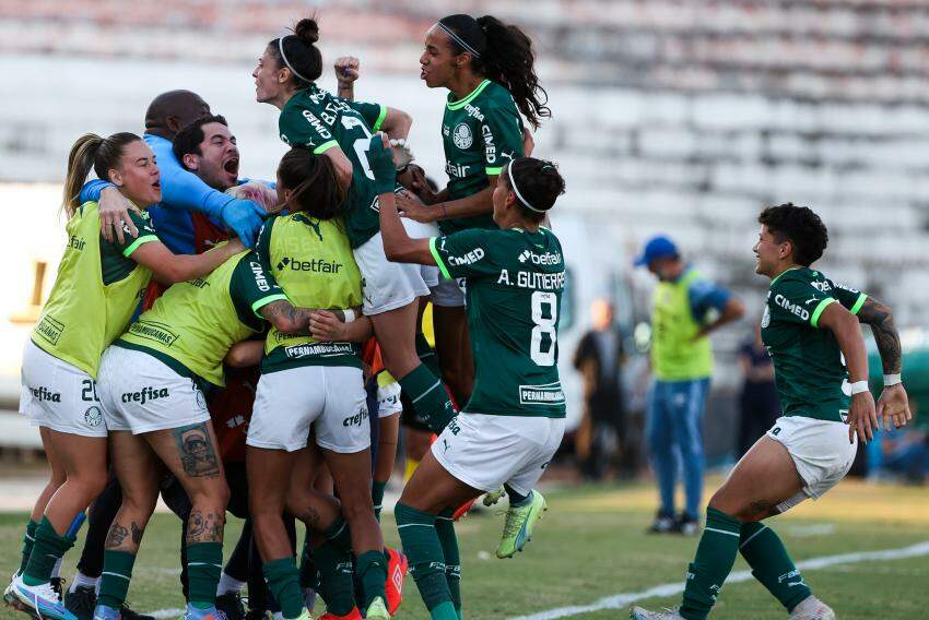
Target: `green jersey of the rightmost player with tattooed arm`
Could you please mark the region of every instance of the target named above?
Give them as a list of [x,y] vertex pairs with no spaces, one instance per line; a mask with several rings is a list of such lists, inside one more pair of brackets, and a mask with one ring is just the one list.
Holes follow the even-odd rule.
[[785,416],[845,421],[851,401],[848,371],[838,343],[819,320],[830,303],[857,314],[868,298],[809,267],[788,270],[771,283],[762,341],[774,361]]

